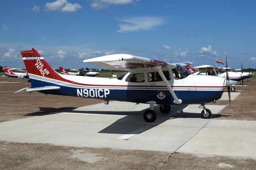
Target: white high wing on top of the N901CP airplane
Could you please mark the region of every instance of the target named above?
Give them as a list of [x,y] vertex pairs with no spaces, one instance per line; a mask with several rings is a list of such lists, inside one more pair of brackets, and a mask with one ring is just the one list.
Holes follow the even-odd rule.
[[170,68],[176,68],[176,64],[138,57],[130,54],[105,55],[102,57],[85,59],[84,62],[98,65],[100,67],[105,67],[110,70],[122,71],[128,71],[132,69],[146,69],[164,65]]

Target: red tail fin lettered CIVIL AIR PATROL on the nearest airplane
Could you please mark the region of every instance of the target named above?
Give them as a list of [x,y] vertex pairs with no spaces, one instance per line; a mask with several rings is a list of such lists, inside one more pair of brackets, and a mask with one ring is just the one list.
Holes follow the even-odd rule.
[[44,60],[36,49],[32,48],[32,50],[20,51],[20,53],[29,74],[39,75],[51,79],[57,79],[60,77],[60,75],[58,75],[50,64]]

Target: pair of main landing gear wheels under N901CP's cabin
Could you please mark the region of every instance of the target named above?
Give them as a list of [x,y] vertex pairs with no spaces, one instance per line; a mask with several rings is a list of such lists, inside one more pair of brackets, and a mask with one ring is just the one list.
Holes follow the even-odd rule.
[[[147,103],[150,104],[150,106],[149,109],[144,112],[143,118],[146,122],[154,122],[156,120],[156,112],[153,109],[156,102],[150,101]],[[171,111],[171,107],[170,105],[160,105],[160,111],[164,114],[167,114]]]

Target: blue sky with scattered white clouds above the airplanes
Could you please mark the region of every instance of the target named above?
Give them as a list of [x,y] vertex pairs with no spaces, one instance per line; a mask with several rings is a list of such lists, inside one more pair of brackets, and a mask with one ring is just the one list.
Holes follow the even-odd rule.
[[55,69],[100,68],[82,61],[118,53],[256,68],[255,9],[255,0],[1,0],[0,65],[25,68],[19,52],[34,47]]

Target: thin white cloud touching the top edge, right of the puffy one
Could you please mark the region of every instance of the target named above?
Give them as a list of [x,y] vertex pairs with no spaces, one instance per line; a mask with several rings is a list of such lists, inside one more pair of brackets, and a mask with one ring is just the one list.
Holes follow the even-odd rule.
[[91,8],[94,10],[103,10],[109,8],[110,5],[127,5],[134,4],[140,0],[93,0]]

